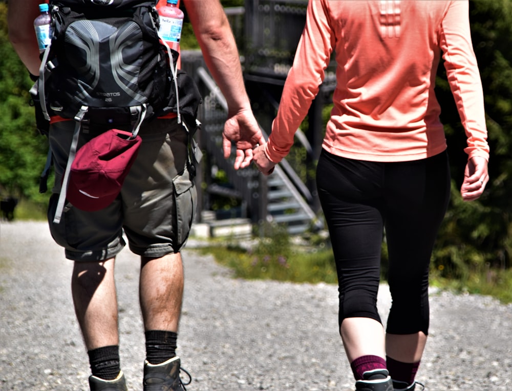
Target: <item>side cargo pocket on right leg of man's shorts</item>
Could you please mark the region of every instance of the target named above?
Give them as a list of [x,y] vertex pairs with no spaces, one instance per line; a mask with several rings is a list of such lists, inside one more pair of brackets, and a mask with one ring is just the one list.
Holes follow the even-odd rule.
[[185,167],[183,174],[173,178],[174,204],[176,208],[176,220],[174,232],[179,247],[183,246],[190,234],[190,227],[194,221],[197,204],[197,189],[194,181]]

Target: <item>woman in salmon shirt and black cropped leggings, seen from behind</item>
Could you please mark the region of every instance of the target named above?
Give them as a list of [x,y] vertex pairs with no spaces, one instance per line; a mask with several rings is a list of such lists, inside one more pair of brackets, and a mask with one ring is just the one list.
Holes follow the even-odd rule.
[[[414,390],[429,330],[429,263],[450,197],[434,94],[441,55],[467,135],[463,199],[480,197],[489,179],[468,2],[310,0],[272,132],[254,151],[264,174],[288,154],[332,51],[334,106],[316,181],[338,273],[340,335],[357,390]],[[376,307],[383,231],[393,300],[386,331]]]

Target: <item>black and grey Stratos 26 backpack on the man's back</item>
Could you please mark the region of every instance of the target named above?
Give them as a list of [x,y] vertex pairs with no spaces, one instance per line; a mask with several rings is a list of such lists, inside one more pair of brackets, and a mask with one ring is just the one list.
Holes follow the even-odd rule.
[[193,79],[176,69],[179,54],[158,35],[157,1],[50,0],[53,35],[31,94],[42,132],[50,116],[76,121],[68,166],[81,129],[116,128],[136,137],[143,121],[168,112],[190,129],[198,151],[192,136],[201,96]]

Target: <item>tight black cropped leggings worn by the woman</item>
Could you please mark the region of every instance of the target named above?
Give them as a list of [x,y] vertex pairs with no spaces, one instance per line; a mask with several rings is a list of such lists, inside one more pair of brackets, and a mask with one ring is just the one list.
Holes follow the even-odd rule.
[[339,325],[379,321],[377,291],[383,229],[392,306],[387,332],[429,330],[429,264],[450,198],[446,152],[411,162],[379,163],[322,150],[316,170],[339,284]]

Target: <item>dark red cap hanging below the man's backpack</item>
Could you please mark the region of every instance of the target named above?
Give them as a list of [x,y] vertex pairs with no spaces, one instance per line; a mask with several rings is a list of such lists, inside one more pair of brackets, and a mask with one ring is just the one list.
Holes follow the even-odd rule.
[[66,198],[87,212],[109,206],[121,191],[124,178],[137,157],[140,136],[110,129],[84,144],[76,153]]

